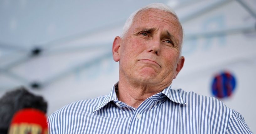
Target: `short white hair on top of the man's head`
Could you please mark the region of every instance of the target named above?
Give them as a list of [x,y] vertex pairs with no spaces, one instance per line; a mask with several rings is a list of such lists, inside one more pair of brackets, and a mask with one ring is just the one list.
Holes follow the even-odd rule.
[[169,6],[167,6],[167,5],[163,4],[163,3],[152,3],[152,4],[149,4],[149,5],[145,6],[145,7],[141,7],[140,9],[138,9],[137,11],[133,12],[130,15],[130,17],[126,20],[126,22],[125,22],[125,24],[123,26],[123,31],[121,33],[121,38],[122,39],[125,37],[125,35],[127,34],[129,28],[131,27],[135,15],[138,14],[138,12],[141,12],[141,11],[144,11],[144,10],[147,10],[147,9],[151,9],[151,8],[159,9],[159,10],[162,10],[162,11],[165,11],[165,12],[170,12],[171,14],[173,14],[177,18],[178,22],[180,23],[176,13],[174,12],[174,10],[171,7],[169,7]]

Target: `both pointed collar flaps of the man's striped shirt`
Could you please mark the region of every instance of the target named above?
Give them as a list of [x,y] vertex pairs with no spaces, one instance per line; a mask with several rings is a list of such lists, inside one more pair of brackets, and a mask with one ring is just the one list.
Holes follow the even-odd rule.
[[[116,90],[118,90],[118,82],[113,85],[111,92],[106,97],[104,97],[102,102],[99,103],[99,105],[96,107],[96,109],[93,112],[100,110],[102,107],[106,106],[111,101],[118,101]],[[169,87],[166,87],[160,93],[165,94],[165,96],[167,96],[173,102],[186,104],[181,97],[180,90],[171,89],[171,85]]]

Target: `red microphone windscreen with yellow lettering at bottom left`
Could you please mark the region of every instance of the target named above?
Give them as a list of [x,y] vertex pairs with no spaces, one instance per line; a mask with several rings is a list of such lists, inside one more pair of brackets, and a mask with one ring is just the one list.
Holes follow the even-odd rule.
[[9,128],[8,134],[48,134],[44,112],[33,108],[16,112]]

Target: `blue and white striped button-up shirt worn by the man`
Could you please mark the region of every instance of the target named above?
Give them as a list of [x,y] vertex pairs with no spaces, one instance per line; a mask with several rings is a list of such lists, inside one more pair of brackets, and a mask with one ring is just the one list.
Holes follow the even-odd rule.
[[213,97],[165,88],[136,109],[107,96],[73,102],[48,117],[50,134],[252,133],[238,112]]

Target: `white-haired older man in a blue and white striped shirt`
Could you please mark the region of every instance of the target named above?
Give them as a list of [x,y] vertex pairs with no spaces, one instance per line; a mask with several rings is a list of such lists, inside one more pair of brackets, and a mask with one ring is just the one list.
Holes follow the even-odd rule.
[[49,118],[52,134],[251,133],[219,100],[171,89],[183,67],[182,27],[160,3],[134,12],[113,42],[119,81],[109,95],[73,102]]

